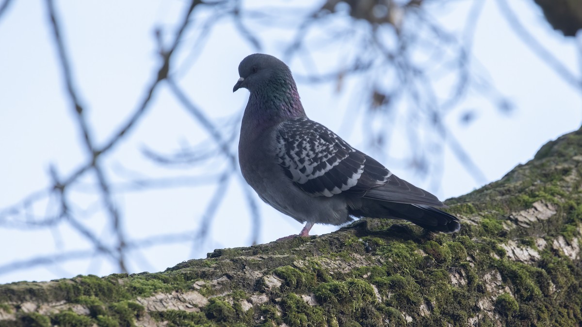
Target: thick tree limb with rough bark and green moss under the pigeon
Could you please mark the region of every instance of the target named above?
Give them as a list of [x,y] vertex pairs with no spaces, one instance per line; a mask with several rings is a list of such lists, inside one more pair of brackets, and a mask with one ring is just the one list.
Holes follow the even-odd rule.
[[446,202],[455,234],[361,220],[160,273],[0,286],[0,326],[580,326],[582,129]]

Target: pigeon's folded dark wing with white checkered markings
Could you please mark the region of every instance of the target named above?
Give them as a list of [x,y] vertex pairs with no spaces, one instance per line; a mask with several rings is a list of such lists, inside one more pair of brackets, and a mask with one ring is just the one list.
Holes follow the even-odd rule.
[[437,197],[399,179],[313,120],[295,118],[281,123],[276,147],[285,175],[310,196],[350,193],[381,201],[443,206]]

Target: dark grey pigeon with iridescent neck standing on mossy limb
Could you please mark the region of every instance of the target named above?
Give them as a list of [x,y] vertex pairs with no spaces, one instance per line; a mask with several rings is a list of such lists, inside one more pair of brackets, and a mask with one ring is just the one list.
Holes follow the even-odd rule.
[[435,208],[446,207],[437,197],[307,118],[285,63],[249,55],[239,76],[233,92],[250,91],[240,127],[240,169],[263,201],[306,223],[299,236],[308,236],[315,223],[341,225],[361,217],[406,219],[435,232],[461,228],[459,218]]

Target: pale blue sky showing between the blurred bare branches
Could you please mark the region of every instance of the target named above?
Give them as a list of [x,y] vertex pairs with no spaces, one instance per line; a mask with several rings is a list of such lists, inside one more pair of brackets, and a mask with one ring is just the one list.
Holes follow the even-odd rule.
[[[285,2],[286,3],[286,2]],[[183,3],[178,1],[57,2],[65,41],[72,58],[74,79],[88,111],[95,136],[104,141],[119,127],[139,102],[145,86],[158,65],[153,29],[162,26],[169,34],[182,17]],[[572,72],[580,71],[576,40],[565,39],[545,23],[541,11],[530,0],[512,3],[521,21]],[[453,33],[460,32],[469,1],[455,2],[450,10],[435,15]],[[49,183],[48,167],[55,165],[62,176],[83,162],[83,147],[66,101],[52,35],[42,2],[13,3],[0,20],[0,208],[15,204],[34,190]],[[196,24],[196,23],[195,23]],[[196,25],[193,25],[196,26]],[[192,28],[184,38],[183,59],[196,40]],[[262,31],[263,52],[281,56],[282,40],[290,37],[281,29]],[[254,52],[236,32],[230,20],[219,23],[205,42],[194,65],[180,71],[180,85],[212,118],[220,121],[240,111],[248,93],[232,94],[238,78],[237,66],[244,56]],[[509,115],[499,113],[491,104],[469,94],[463,106],[448,116],[448,126],[464,149],[484,172],[488,182],[499,179],[518,163],[531,159],[546,141],[577,129],[582,121],[580,91],[565,83],[538,59],[513,33],[501,17],[494,1],[485,3],[477,24],[473,45],[474,70],[488,76],[496,88],[515,105]],[[316,58],[317,59],[317,58]],[[294,72],[304,67],[290,63]],[[345,94],[338,96],[333,84],[299,84],[303,105],[311,119],[340,132],[342,114],[353,104],[351,90],[357,80],[347,80]],[[469,126],[458,122],[463,109],[475,108],[478,117]],[[347,137],[354,146],[366,150],[361,123]],[[401,131],[400,131],[401,132]],[[143,158],[144,145],[171,153],[180,144],[197,144],[207,136],[197,122],[176,102],[166,87],[155,94],[152,108],[140,126],[108,155],[108,174],[121,180],[130,171],[143,176],[196,175],[207,171],[160,169]],[[235,144],[236,147],[236,144]],[[403,151],[405,149],[402,149]],[[399,157],[398,145],[393,147]],[[418,186],[428,182],[411,170],[382,161],[397,175]],[[250,219],[242,200],[240,183],[233,180],[226,205],[219,208],[211,229],[211,239],[200,248],[192,244],[148,248],[133,253],[132,272],[162,271],[190,258],[205,257],[214,248],[248,246]],[[460,196],[480,187],[446,151],[445,170],[439,189],[431,189],[440,198]],[[210,197],[212,187],[178,187],[118,194],[116,202],[125,216],[125,229],[131,237],[142,238],[157,233],[196,229]],[[75,198],[80,209],[90,211],[94,194]],[[37,214],[46,205],[38,205]],[[297,233],[301,225],[293,219],[262,205],[260,243]],[[88,215],[84,221],[95,233],[108,239],[107,220],[102,214]],[[313,234],[335,228],[315,226]],[[57,240],[57,241],[55,241]],[[19,230],[0,228],[0,266],[42,254],[87,248],[88,243],[70,228]],[[48,280],[93,273],[107,275],[115,266],[102,258],[70,261],[63,265],[22,269],[0,275],[0,283],[16,280]]]

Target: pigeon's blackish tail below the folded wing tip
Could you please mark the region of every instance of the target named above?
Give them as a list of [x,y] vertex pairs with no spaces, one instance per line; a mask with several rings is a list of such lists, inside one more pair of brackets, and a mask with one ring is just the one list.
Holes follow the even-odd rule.
[[459,218],[421,204],[363,199],[361,207],[351,209],[350,214],[358,217],[406,219],[432,232],[454,233],[461,229]]

